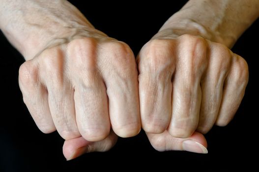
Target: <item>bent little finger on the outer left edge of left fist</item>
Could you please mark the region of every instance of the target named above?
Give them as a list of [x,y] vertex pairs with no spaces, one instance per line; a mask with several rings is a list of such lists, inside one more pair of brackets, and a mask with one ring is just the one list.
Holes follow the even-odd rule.
[[19,70],[19,86],[24,102],[38,128],[43,133],[56,130],[49,109],[48,92],[40,83],[38,67],[31,61],[21,65]]

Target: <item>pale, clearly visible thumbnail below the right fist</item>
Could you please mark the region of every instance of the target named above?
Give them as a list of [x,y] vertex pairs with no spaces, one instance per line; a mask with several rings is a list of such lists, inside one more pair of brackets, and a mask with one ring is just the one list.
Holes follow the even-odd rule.
[[184,150],[195,153],[208,153],[206,147],[204,147],[201,143],[195,142],[193,140],[187,140],[182,143],[182,147]]

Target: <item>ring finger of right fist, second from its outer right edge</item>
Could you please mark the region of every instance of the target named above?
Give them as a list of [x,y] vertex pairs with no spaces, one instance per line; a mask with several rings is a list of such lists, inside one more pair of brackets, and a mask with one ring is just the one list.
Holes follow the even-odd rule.
[[201,80],[202,100],[197,127],[197,131],[203,134],[212,128],[219,113],[223,84],[230,68],[230,50],[221,44],[214,44],[208,58],[208,67]]

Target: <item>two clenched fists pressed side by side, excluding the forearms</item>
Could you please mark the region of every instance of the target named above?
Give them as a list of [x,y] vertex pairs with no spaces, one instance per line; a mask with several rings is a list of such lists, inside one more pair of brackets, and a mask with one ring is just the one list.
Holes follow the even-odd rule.
[[202,134],[230,122],[247,82],[242,57],[188,34],[157,34],[136,63],[127,44],[94,30],[57,40],[19,71],[30,114],[66,140],[67,159],[109,150],[141,127],[157,150],[206,153]]

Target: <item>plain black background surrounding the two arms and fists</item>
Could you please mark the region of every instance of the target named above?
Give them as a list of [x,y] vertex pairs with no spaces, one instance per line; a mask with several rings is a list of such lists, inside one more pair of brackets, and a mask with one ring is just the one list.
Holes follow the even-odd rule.
[[[174,5],[166,1],[148,4],[121,1],[107,4],[70,0],[95,26],[111,37],[126,42],[138,54],[141,47],[187,0]],[[33,15],[33,14],[32,14]],[[167,170],[228,171],[256,167],[258,158],[258,34],[256,21],[237,41],[232,51],[244,57],[250,79],[245,97],[226,127],[213,127],[205,135],[208,154],[183,151],[158,152],[144,132],[128,139],[119,138],[108,152],[89,153],[66,161],[63,139],[57,132],[41,133],[26,106],[18,86],[23,57],[0,33],[0,172],[90,171],[90,170]]]

